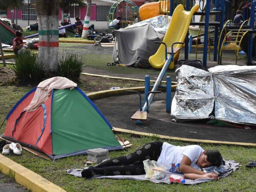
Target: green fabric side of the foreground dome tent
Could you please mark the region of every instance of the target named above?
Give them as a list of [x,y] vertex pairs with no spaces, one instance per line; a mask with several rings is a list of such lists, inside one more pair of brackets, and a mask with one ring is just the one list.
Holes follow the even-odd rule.
[[108,122],[84,96],[78,89],[54,91],[51,106],[53,154],[69,154],[84,150],[85,146],[93,149],[120,145]]

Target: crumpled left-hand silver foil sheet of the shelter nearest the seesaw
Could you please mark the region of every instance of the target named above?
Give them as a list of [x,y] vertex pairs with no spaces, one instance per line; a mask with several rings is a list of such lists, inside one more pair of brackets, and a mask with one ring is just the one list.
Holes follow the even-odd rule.
[[206,119],[213,111],[212,74],[182,65],[176,70],[177,88],[172,100],[171,115],[177,121]]

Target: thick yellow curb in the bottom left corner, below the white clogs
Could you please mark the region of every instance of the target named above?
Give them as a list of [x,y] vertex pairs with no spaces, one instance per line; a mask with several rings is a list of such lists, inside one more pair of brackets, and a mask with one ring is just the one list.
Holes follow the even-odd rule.
[[15,173],[15,181],[33,192],[65,192],[61,187],[1,154],[0,169],[4,174]]

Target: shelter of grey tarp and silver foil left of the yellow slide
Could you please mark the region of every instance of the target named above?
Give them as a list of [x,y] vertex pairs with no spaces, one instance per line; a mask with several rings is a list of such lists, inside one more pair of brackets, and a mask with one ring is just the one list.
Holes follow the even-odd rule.
[[156,53],[160,45],[154,42],[163,40],[170,21],[171,16],[159,15],[125,29],[114,30],[114,62],[128,66],[137,64],[140,67],[150,67],[148,59]]

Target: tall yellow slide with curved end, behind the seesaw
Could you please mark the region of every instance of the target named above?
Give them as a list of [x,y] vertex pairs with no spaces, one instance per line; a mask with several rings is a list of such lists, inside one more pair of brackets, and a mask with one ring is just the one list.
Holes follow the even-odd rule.
[[[167,47],[171,47],[174,42],[184,42],[187,31],[190,26],[190,21],[195,12],[199,9],[199,5],[192,7],[190,11],[184,10],[183,5],[178,5],[172,14],[171,23],[166,31],[163,42]],[[181,48],[182,44],[175,44],[174,47]],[[174,61],[178,59],[179,52],[174,55]],[[169,55],[168,55],[169,57]],[[161,69],[165,63],[165,46],[160,45],[154,55],[149,57],[149,63],[152,67]],[[169,69],[173,69],[174,64],[171,62]]]

